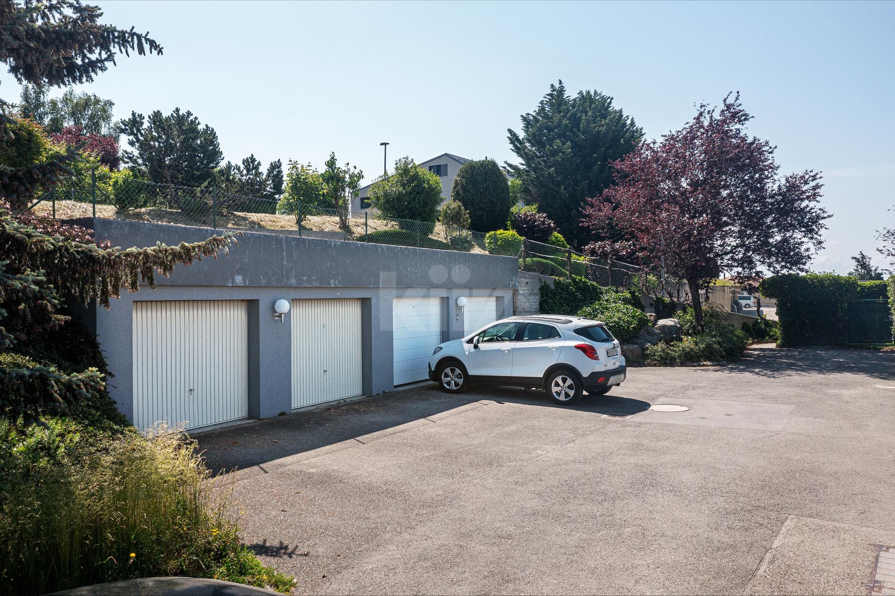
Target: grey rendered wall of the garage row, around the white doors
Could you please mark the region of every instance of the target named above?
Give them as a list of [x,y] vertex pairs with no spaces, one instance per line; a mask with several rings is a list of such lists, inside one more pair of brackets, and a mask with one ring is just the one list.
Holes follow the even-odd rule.
[[[197,242],[214,230],[117,219],[72,221],[94,230],[97,240],[123,248]],[[337,242],[270,233],[245,233],[228,256],[178,266],[157,276],[158,289],[124,292],[105,310],[77,314],[97,333],[109,370],[110,394],[132,416],[132,303],[139,300],[247,300],[249,302],[250,403],[252,417],[291,409],[292,313],[273,318],[278,299],[362,299],[362,387],[366,395],[394,389],[392,301],[399,296],[442,298],[445,340],[464,335],[460,296],[497,297],[497,316],[512,315],[518,285],[515,257],[435,251],[383,244]]]

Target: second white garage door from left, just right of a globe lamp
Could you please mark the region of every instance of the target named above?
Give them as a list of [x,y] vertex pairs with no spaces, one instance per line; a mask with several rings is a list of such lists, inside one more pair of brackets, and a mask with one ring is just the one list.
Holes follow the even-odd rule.
[[361,299],[292,301],[292,407],[362,394]]

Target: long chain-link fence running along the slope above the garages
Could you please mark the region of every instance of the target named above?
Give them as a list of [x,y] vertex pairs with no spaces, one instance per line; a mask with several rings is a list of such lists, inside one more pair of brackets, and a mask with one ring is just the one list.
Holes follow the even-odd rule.
[[458,226],[386,217],[374,209],[350,213],[326,205],[224,192],[215,187],[158,184],[130,173],[70,178],[57,183],[30,209],[69,219],[107,217],[214,229],[268,230],[307,238],[391,244],[517,257],[524,271],[551,277],[584,277],[599,285],[628,287],[642,269],[587,257],[566,247],[526,239],[498,239]]

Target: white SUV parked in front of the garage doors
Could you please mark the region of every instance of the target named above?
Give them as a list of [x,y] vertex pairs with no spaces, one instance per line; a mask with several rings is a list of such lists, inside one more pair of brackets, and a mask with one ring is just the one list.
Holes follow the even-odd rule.
[[625,380],[618,340],[600,321],[540,315],[502,319],[435,348],[429,378],[450,393],[470,383],[544,387],[559,404],[601,396]]

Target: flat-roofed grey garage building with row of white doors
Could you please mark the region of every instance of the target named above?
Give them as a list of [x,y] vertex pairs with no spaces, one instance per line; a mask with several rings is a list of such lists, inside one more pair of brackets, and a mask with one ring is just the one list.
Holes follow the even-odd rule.
[[[76,220],[116,246],[197,242],[208,228]],[[515,258],[245,233],[106,310],[109,393],[141,429],[188,429],[372,396],[427,379],[435,345],[513,311]],[[456,306],[465,297],[466,306]],[[288,305],[279,315],[275,304]],[[285,310],[285,309],[281,309]]]

